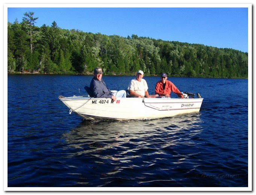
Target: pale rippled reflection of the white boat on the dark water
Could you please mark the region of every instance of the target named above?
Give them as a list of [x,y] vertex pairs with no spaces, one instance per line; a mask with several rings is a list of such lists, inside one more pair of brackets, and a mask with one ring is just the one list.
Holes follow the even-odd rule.
[[[135,158],[141,152],[166,153],[173,145],[193,146],[194,138],[202,130],[200,114],[143,121],[83,121],[77,128],[64,134],[68,147],[79,154],[102,155],[121,162],[128,162],[127,154]],[[181,136],[182,135],[182,136]],[[116,150],[113,152],[108,150]],[[73,155],[78,155],[73,153]],[[136,155],[135,155],[136,153]]]

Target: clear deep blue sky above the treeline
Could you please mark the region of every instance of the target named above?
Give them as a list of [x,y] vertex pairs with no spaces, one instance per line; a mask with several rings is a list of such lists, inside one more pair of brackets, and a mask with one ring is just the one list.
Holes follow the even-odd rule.
[[[35,12],[38,27],[55,21],[62,29],[198,43],[248,52],[248,7],[15,7],[8,21]],[[60,5],[60,4],[58,4]],[[206,4],[207,5],[207,4]],[[241,4],[242,5],[242,4]],[[26,4],[23,4],[26,6]],[[35,6],[35,4],[34,4]],[[49,6],[49,5],[48,5]],[[249,29],[249,34],[251,33]]]

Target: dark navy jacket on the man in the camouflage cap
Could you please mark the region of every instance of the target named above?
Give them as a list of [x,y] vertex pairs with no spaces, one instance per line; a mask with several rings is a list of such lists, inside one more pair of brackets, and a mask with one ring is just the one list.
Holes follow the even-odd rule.
[[113,93],[107,88],[106,83],[101,79],[92,78],[90,89],[95,98],[112,98]]

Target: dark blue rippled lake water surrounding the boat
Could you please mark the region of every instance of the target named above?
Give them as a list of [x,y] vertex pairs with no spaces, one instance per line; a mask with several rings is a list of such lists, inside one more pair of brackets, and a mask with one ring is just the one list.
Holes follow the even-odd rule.
[[[8,187],[248,187],[247,79],[169,77],[200,93],[199,113],[91,122],[58,99],[91,78],[8,75]],[[103,79],[121,90],[133,76]],[[159,77],[144,79],[153,94]]]

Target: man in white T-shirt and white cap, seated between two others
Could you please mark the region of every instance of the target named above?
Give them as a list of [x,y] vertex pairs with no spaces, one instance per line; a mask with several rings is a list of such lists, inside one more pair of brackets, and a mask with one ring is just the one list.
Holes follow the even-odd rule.
[[149,95],[148,94],[148,85],[145,79],[142,79],[144,73],[142,70],[139,70],[136,74],[136,78],[132,79],[129,83],[128,90],[130,92],[130,97],[147,97],[155,98],[158,95]]

